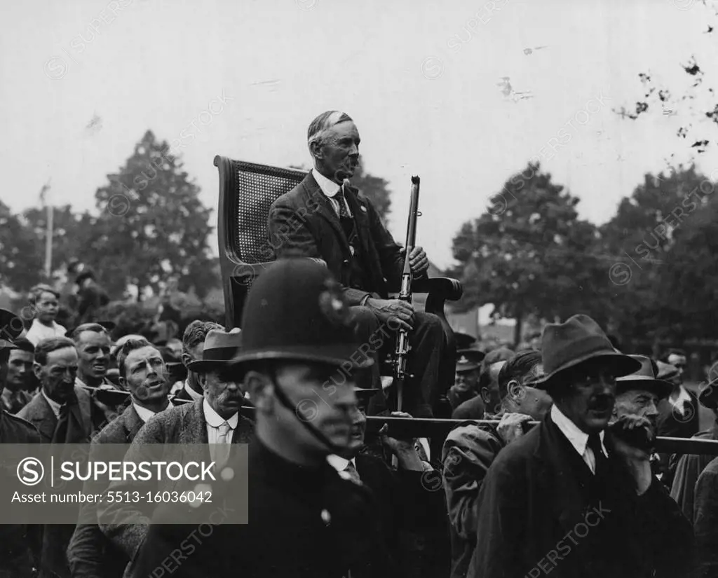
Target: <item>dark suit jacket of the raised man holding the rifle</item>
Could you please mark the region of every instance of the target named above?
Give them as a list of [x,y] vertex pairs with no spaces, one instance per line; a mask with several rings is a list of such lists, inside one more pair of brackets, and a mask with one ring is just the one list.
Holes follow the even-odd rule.
[[269,209],[269,242],[277,258],[314,257],[327,267],[345,288],[349,305],[359,305],[370,293],[386,298],[398,291],[404,257],[401,247],[381,222],[373,204],[358,189],[350,187],[345,198],[357,223],[357,233],[365,255],[370,287],[349,287],[349,242],[339,217],[317,181],[309,172],[304,181],[276,199]]

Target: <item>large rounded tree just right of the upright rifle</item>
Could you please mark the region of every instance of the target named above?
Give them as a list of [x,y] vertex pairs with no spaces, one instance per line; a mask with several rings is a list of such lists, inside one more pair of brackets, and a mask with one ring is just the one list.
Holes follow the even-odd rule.
[[493,303],[494,317],[516,319],[516,344],[528,315],[553,321],[587,307],[600,312],[589,298],[600,278],[597,232],[578,219],[578,202],[539,164],[506,181],[493,207],[454,237],[459,265],[450,274],[464,285],[460,308]]

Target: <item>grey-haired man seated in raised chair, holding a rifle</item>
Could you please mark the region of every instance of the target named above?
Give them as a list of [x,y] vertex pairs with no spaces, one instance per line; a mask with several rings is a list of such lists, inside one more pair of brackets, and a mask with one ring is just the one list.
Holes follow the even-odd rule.
[[[444,392],[437,384],[439,361],[446,347],[437,316],[414,311],[410,303],[390,299],[398,293],[404,270],[404,248],[394,242],[372,202],[349,179],[359,162],[359,132],[346,113],[328,110],[307,131],[314,168],[292,191],[269,209],[269,242],[276,257],[324,260],[342,290],[358,324],[359,351],[377,362],[371,387],[381,387],[379,364],[393,333],[409,331],[411,354],[404,409],[414,417],[432,417]],[[426,275],[429,259],[414,247],[411,271]]]

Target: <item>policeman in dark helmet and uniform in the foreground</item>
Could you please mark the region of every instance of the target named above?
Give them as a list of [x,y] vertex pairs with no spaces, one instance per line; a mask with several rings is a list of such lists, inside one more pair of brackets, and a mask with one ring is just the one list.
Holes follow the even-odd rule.
[[[372,363],[359,350],[340,285],[312,260],[280,260],[253,284],[242,331],[236,368],[256,406],[249,523],[218,521],[185,556],[187,526],[160,525],[167,517],[159,508],[131,575],[169,574],[169,560],[173,578],[396,576],[370,491],[327,462],[352,442],[355,374]],[[193,516],[241,510],[241,473],[225,482],[228,472],[213,503]]]

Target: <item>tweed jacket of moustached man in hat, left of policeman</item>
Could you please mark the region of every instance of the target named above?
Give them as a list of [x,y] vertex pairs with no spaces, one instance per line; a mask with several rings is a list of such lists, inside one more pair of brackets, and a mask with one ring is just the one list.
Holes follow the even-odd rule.
[[[202,402],[203,400],[200,399],[191,404],[169,407],[164,412],[152,416],[132,440],[125,460],[137,461],[140,459],[139,456],[142,456],[142,460],[149,461],[181,461],[189,460],[189,456],[192,456],[191,459],[209,462],[210,455],[206,446],[192,447],[208,443],[207,422],[202,410]],[[252,435],[253,422],[240,414],[232,442],[248,443]],[[156,446],[151,450],[147,448],[143,450],[144,445]],[[174,447],[167,447],[168,445]],[[185,448],[181,456],[174,453],[180,446]],[[153,452],[151,460],[147,457],[150,451]],[[137,491],[144,495],[146,492],[179,492],[192,489],[183,487],[184,483],[185,481],[182,479],[163,480],[159,486],[154,480],[116,481],[110,484],[108,491]],[[139,546],[146,536],[147,525],[152,516],[151,507],[152,505],[147,503],[126,502],[103,502],[98,506],[98,521],[101,530],[115,546],[123,550],[130,560],[134,560]],[[134,523],[119,523],[123,519],[131,519]]]

